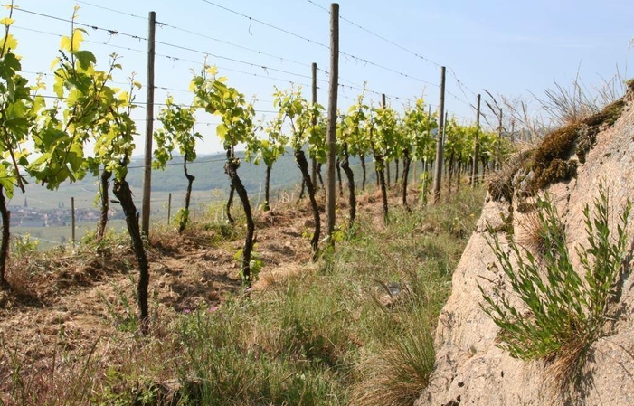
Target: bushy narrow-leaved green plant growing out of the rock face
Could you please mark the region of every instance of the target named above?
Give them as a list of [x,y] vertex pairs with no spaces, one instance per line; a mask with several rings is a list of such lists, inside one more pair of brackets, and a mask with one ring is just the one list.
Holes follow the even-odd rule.
[[478,285],[484,303],[482,309],[500,327],[497,345],[515,358],[552,362],[554,382],[572,383],[579,376],[592,345],[601,335],[609,319],[609,302],[619,282],[621,263],[625,258],[631,203],[620,214],[617,235],[609,228],[608,192],[600,185],[591,216],[584,210],[587,247],[578,248],[582,273],[572,267],[563,224],[548,199],[537,202],[543,241],[542,258],[522,250],[511,239],[510,253],[494,234],[489,241],[511,288],[524,303],[516,307],[512,298],[499,287],[487,293]]

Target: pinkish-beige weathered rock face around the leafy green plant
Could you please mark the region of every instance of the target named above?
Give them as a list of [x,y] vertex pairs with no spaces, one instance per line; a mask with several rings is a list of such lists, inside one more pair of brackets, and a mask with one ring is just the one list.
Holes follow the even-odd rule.
[[[597,143],[578,167],[577,176],[566,183],[549,187],[557,212],[565,224],[571,252],[586,243],[583,208],[592,207],[599,195],[599,184],[610,193],[613,210],[612,230],[616,231],[619,213],[627,199],[634,200],[634,106],[632,94],[617,122],[601,131]],[[513,210],[515,209],[515,210]],[[502,235],[512,225],[516,237],[523,230],[524,214],[508,203],[488,200],[478,230],[468,242],[453,276],[453,289],[440,314],[436,330],[436,369],[430,386],[421,394],[417,406],[427,405],[544,405],[634,404],[634,275],[632,262],[625,269],[618,319],[610,333],[591,348],[586,364],[587,380],[581,392],[557,393],[549,384],[548,369],[542,362],[511,358],[496,347],[498,327],[479,307],[482,301],[478,283],[490,291],[504,283],[506,275],[495,265],[489,248],[487,224]],[[505,220],[506,219],[506,220]],[[630,219],[631,220],[631,219]],[[505,224],[505,221],[507,222]],[[629,241],[634,226],[628,225]],[[500,238],[505,244],[506,239]],[[628,245],[630,253],[634,244]],[[503,245],[503,248],[504,247]],[[575,269],[579,259],[572,255]],[[509,288],[510,289],[510,288]],[[518,304],[518,306],[521,306]]]

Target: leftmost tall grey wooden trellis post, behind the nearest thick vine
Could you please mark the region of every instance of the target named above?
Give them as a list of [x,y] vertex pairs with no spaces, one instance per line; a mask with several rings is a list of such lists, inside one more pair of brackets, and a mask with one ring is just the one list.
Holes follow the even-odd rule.
[[141,234],[149,236],[150,194],[152,190],[152,137],[154,135],[154,59],[156,13],[149,14],[147,34],[147,106],[146,106],[146,156],[143,168],[143,202],[141,203]]

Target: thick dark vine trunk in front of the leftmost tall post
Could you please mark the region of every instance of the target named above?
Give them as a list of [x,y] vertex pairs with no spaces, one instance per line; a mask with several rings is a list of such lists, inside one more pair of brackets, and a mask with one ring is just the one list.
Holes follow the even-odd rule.
[[115,179],[112,187],[112,193],[117,196],[118,203],[121,204],[126,215],[126,225],[128,226],[128,234],[132,240],[132,250],[134,250],[137,259],[139,278],[137,284],[137,300],[138,310],[140,313],[139,321],[141,322],[141,332],[147,334],[149,330],[149,311],[147,307],[147,287],[149,287],[150,274],[149,264],[147,262],[146,250],[143,247],[141,239],[141,231],[138,228],[137,207],[132,200],[132,192],[130,186],[125,179]]

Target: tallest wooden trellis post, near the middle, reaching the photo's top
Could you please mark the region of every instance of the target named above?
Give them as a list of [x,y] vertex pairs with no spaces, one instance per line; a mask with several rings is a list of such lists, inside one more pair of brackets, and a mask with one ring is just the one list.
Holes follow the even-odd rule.
[[326,238],[332,244],[336,203],[336,97],[339,87],[339,5],[330,5],[330,83],[328,86],[328,128],[326,132]]

